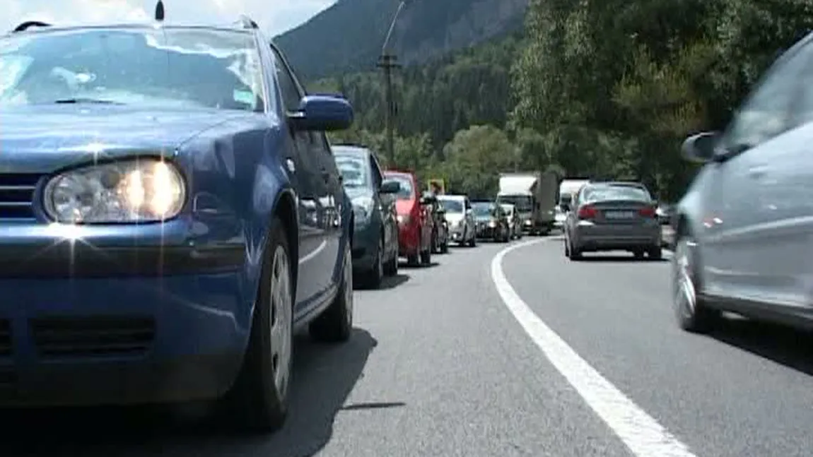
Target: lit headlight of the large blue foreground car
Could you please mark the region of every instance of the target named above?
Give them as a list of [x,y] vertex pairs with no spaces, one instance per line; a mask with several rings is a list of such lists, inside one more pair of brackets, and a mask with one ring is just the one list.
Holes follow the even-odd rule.
[[121,223],[174,218],[185,196],[172,163],[142,158],[66,171],[46,184],[43,200],[56,222]]

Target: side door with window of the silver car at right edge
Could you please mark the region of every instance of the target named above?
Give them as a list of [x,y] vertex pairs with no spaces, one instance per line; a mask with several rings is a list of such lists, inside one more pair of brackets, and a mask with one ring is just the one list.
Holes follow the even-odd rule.
[[793,289],[811,239],[798,218],[809,213],[813,195],[810,139],[793,129],[792,115],[810,49],[780,58],[720,140],[703,224],[708,294],[763,303],[800,298]]

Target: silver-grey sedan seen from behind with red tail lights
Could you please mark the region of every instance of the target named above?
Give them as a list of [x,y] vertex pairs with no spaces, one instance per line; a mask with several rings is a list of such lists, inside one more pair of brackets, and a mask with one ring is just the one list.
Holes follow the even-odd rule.
[[[566,204],[567,205],[567,204]],[[587,183],[574,194],[564,222],[564,252],[629,251],[661,258],[656,203],[641,183]]]

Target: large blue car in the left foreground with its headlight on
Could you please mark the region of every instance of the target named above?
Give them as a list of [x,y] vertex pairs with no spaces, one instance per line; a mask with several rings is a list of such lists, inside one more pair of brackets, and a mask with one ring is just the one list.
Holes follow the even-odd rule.
[[232,27],[0,37],[0,405],[285,420],[292,334],[350,338],[352,206],[283,54]]

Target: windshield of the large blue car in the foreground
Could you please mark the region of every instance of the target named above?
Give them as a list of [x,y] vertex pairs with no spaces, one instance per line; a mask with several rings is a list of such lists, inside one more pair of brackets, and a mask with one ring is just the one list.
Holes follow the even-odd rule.
[[0,38],[0,107],[101,102],[262,111],[254,36],[211,28],[76,28]]

